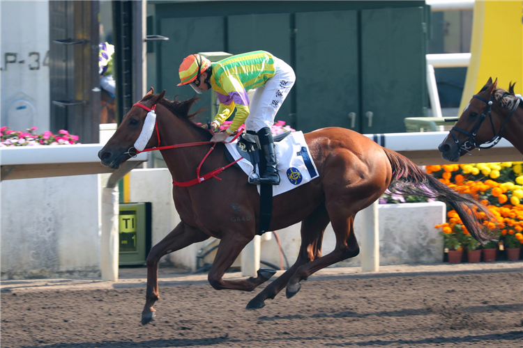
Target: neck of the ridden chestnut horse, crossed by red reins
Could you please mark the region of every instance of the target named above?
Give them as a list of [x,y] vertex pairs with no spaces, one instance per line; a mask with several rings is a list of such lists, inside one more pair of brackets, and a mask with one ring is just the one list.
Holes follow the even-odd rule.
[[[202,132],[174,116],[165,107],[157,107],[157,114],[160,146],[209,141]],[[160,152],[173,180],[183,182],[196,177],[196,168],[209,152],[210,147],[211,145],[195,145],[188,148],[160,150]]]

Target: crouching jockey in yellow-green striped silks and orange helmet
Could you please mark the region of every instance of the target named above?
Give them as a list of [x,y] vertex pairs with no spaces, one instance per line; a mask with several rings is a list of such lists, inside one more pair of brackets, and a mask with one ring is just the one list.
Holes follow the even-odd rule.
[[[196,93],[213,89],[220,107],[211,127],[218,129],[222,122],[236,115],[225,132],[214,134],[211,141],[225,141],[245,122],[250,133],[257,134],[266,159],[265,172],[259,177],[251,174],[251,184],[280,184],[278,163],[271,127],[278,109],[294,85],[294,70],[284,61],[265,51],[249,52],[211,63],[199,54],[191,54],[180,65],[181,83],[189,85]],[[252,101],[247,91],[257,88]],[[261,173],[261,169],[260,169]]]

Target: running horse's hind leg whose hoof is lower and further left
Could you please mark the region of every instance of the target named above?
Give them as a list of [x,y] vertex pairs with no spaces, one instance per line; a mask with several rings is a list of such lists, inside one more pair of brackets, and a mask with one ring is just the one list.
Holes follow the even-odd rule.
[[328,213],[324,204],[317,207],[312,214],[303,220],[301,223],[301,246],[296,262],[284,274],[267,285],[254,299],[250,300],[247,304],[247,309],[263,308],[265,300],[274,299],[278,292],[287,285],[289,278],[296,272],[298,267],[321,258],[321,241],[328,223]]

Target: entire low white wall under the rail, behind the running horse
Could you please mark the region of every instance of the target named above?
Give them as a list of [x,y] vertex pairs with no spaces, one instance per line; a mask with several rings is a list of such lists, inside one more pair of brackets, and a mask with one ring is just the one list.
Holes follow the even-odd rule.
[[[1,182],[0,278],[99,276],[100,190],[108,178],[109,174],[102,174]],[[130,200],[152,203],[153,245],[180,222],[167,168],[132,171]],[[434,225],[443,223],[445,214],[444,203],[380,205],[380,263],[441,262],[442,238]],[[361,241],[363,226],[359,216],[355,230]],[[289,264],[293,264],[301,242],[300,224],[278,234]],[[261,239],[261,260],[279,265],[276,239],[267,237],[271,236],[266,234]],[[196,255],[205,244],[207,241],[171,253],[164,262],[168,258],[178,267],[195,270]],[[335,235],[329,225],[322,253],[329,253],[334,246]],[[214,255],[209,254],[204,262],[212,262]],[[334,267],[359,265],[357,256]],[[234,266],[240,266],[239,260]]]

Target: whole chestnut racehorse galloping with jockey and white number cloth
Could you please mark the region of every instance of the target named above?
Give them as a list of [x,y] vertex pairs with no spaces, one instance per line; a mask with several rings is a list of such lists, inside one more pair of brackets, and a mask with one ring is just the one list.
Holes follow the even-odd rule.
[[[135,155],[133,144],[141,137],[144,122],[149,118],[147,111],[156,107],[156,130],[153,131],[151,126],[152,135],[146,139],[145,148],[159,144],[183,146],[160,150],[174,184],[198,181],[196,172],[211,174],[204,175],[209,179],[205,182],[173,187],[174,204],[182,222],[151,248],[146,259],[147,290],[142,324],[150,322],[156,315],[153,304],[159,298],[160,258],[190,244],[209,237],[221,239],[208,276],[209,283],[216,290],[252,291],[275,272],[261,269],[257,277],[236,281],[222,279],[259,228],[257,187],[248,184],[247,175],[241,169],[229,166],[224,144],[218,143],[213,151],[209,150],[211,133],[190,120],[198,113],[189,113],[195,97],[179,102],[176,98],[174,101],[164,99],[165,90],[160,94],[153,93],[151,88],[130,109],[112,138],[100,150],[98,157],[102,164],[119,168],[123,161]],[[366,136],[338,127],[305,134],[305,141],[319,177],[275,196],[269,227],[269,230],[280,230],[301,221],[298,258],[292,267],[248,303],[248,309],[262,308],[266,299],[273,299],[285,286],[287,298],[290,298],[300,290],[301,280],[306,280],[319,269],[358,255],[360,248],[354,235],[354,217],[386,189],[442,200],[452,205],[474,238],[480,241],[490,239],[481,226],[484,219],[480,217],[481,212],[486,214],[483,216],[490,216],[486,207],[427,175],[406,157],[382,148]],[[202,161],[204,157],[206,159]],[[219,168],[218,171],[215,168]],[[473,211],[476,214],[472,214]],[[245,219],[231,219],[236,214]],[[329,222],[335,232],[336,245],[334,251],[321,255],[321,242]]]

